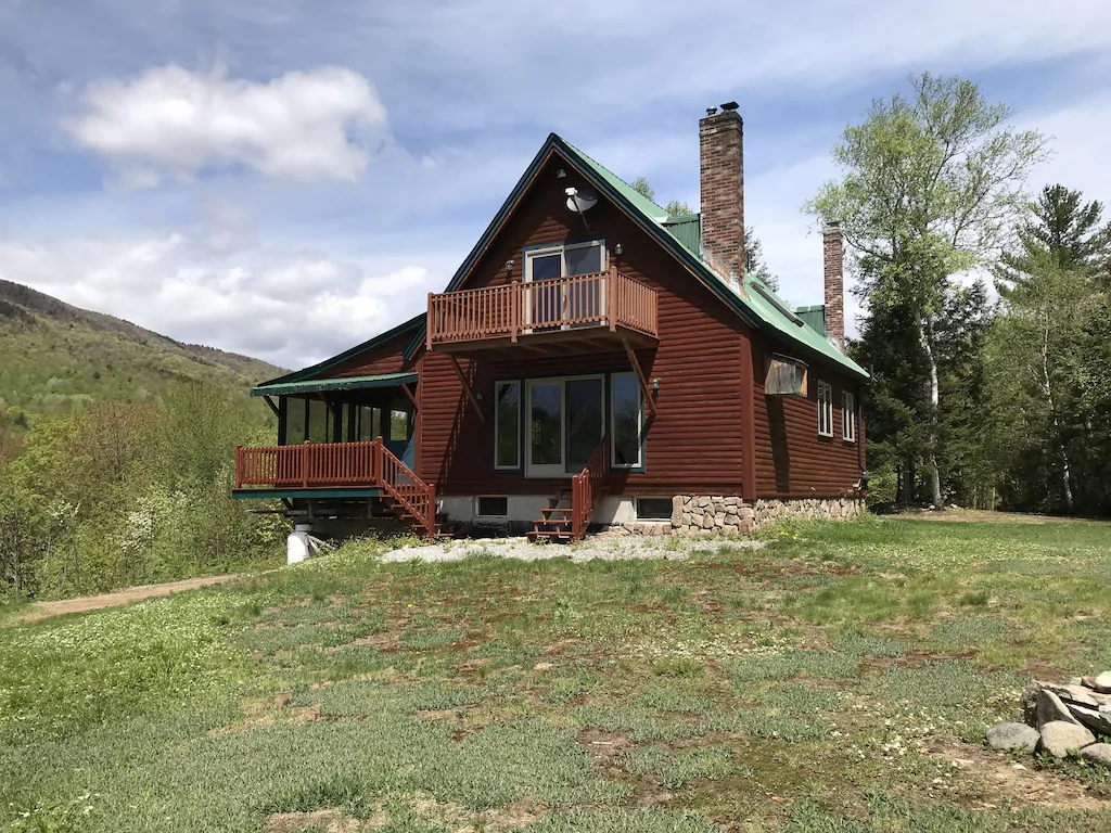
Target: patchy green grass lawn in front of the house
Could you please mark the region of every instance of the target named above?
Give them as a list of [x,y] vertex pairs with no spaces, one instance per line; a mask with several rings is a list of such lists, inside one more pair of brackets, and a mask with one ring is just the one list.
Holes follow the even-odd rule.
[[9,624],[0,830],[1111,830],[1111,770],[980,742],[1031,678],[1111,669],[1111,525],[767,538],[584,564],[361,543]]

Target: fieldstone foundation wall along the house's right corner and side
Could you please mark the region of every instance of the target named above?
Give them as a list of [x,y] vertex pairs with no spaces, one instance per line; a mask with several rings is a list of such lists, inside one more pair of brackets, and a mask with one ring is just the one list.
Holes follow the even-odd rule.
[[779,518],[844,520],[863,511],[864,501],[860,498],[758,500],[750,505],[737,496],[679,494],[671,500],[671,530],[689,535],[748,534]]

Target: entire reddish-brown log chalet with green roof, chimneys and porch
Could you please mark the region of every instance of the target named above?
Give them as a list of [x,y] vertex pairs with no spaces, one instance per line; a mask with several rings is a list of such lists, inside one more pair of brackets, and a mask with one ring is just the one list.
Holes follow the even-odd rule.
[[237,496],[333,534],[857,513],[868,374],[841,352],[840,231],[823,305],[745,274],[741,117],[708,112],[699,214],[550,136],[426,314],[252,391],[278,443],[238,450]]

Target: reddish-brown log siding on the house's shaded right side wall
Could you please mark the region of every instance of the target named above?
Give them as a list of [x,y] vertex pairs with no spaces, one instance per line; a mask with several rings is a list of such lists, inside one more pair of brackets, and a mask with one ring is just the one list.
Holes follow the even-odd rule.
[[[805,399],[765,395],[765,355],[772,352],[790,351],[757,337],[752,345],[757,493],[760,498],[842,496],[860,479],[857,442],[863,441],[863,432],[858,425],[857,442],[841,439],[841,393],[849,391],[859,403],[860,382],[812,364]],[[833,388],[833,436],[818,434],[819,381]]]

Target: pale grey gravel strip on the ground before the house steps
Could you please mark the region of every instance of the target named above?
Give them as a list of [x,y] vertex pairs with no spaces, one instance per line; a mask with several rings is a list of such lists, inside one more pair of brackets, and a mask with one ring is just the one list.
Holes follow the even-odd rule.
[[693,550],[717,550],[719,546],[760,549],[763,541],[712,540],[685,535],[592,535],[575,544],[533,544],[527,538],[494,538],[476,541],[447,541],[434,544],[403,546],[382,555],[384,562],[463,561],[477,555],[519,561],[569,559],[582,561],[629,561],[635,559],[671,559],[682,561]]

